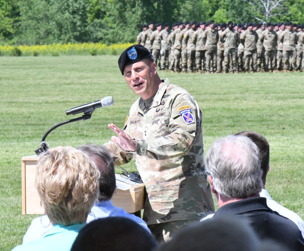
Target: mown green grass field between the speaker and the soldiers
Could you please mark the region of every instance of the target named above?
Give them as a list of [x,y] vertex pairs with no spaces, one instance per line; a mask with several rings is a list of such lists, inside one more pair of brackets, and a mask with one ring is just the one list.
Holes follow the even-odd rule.
[[[114,105],[97,109],[90,120],[51,132],[50,147],[103,144],[108,123],[123,126],[137,96],[117,66],[118,56],[0,57],[0,250],[22,243],[30,221],[22,215],[21,157],[33,155],[44,133],[78,117],[66,110],[113,96]],[[203,111],[205,152],[227,134],[251,130],[270,144],[266,188],[280,204],[304,217],[304,73],[172,74]],[[134,170],[133,162],[125,166]],[[119,172],[119,168],[116,169]]]

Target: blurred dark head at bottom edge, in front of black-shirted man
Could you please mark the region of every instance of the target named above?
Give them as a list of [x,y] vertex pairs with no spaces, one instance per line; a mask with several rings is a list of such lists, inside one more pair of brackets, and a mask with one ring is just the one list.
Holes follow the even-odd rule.
[[157,251],[257,251],[259,239],[246,218],[210,218],[183,228]]

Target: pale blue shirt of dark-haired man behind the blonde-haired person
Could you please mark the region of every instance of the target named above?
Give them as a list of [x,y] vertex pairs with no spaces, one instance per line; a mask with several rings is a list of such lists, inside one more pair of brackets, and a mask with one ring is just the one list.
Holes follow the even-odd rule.
[[[114,207],[111,200],[96,202],[91,209],[91,213],[88,215],[87,223],[99,218],[113,216],[129,218],[137,222],[150,233],[147,224],[141,218],[135,216],[134,214],[128,214],[120,207]],[[29,226],[29,229],[26,231],[26,234],[23,237],[22,244],[43,238],[43,236],[48,234],[48,231],[51,228],[52,225],[47,215],[33,219],[31,225]]]

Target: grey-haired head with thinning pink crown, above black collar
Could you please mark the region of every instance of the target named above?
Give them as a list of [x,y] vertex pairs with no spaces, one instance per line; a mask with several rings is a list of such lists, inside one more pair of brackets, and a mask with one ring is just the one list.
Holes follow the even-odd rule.
[[206,154],[206,172],[213,193],[226,198],[256,196],[262,189],[259,150],[247,137],[216,140]]

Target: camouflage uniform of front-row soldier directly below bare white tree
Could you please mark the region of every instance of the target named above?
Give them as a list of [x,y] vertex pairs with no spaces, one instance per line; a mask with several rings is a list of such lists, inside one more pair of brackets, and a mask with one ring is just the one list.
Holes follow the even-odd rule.
[[274,30],[269,31],[268,29],[264,30],[260,37],[261,43],[265,48],[265,71],[275,70],[275,60],[276,60],[276,48],[278,35]]

